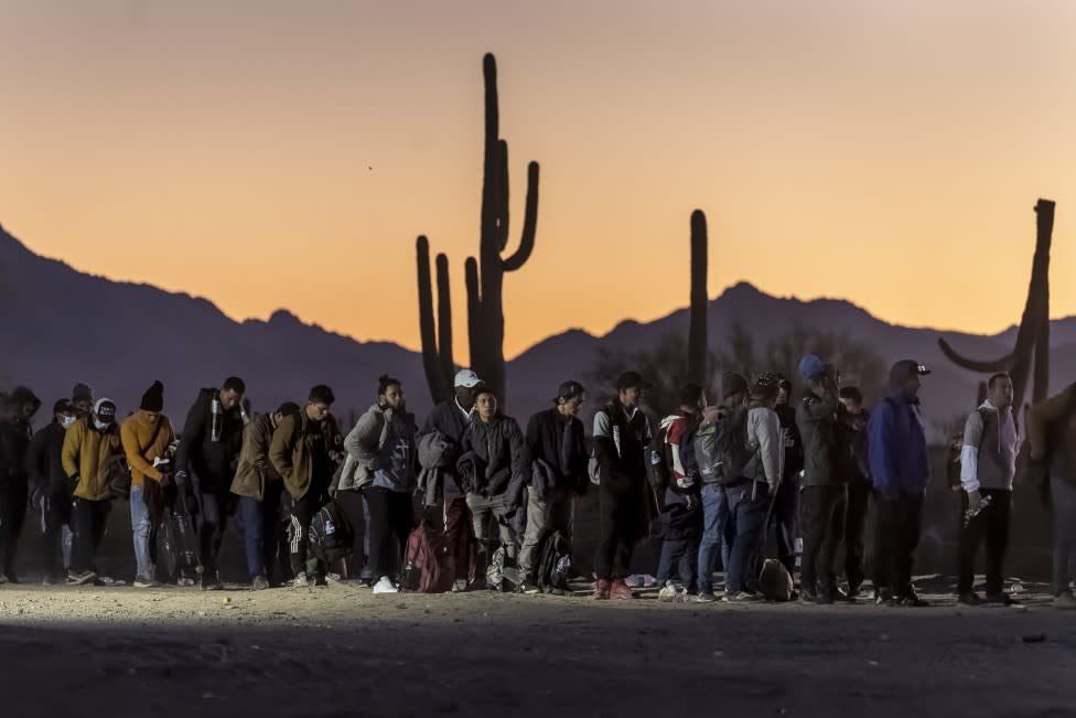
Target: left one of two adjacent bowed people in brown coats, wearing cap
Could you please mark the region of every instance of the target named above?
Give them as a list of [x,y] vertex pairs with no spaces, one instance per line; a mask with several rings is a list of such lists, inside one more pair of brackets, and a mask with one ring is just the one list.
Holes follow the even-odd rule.
[[280,504],[284,484],[269,460],[269,444],[280,421],[299,414],[299,405],[281,404],[276,411],[255,417],[243,430],[243,449],[232,493],[239,496],[239,531],[247,551],[254,590],[270,586],[280,548]]

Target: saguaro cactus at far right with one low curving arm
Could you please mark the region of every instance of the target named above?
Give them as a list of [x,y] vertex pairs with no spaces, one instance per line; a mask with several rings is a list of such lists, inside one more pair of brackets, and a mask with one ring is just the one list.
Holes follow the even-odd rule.
[[1008,355],[994,361],[977,361],[958,354],[944,339],[938,345],[954,364],[981,374],[1009,372],[1013,384],[1013,406],[1023,406],[1027,378],[1034,361],[1032,400],[1046,397],[1050,382],[1050,244],[1054,232],[1054,202],[1035,204],[1035,257],[1027,286],[1027,302],[1016,332],[1016,345]]

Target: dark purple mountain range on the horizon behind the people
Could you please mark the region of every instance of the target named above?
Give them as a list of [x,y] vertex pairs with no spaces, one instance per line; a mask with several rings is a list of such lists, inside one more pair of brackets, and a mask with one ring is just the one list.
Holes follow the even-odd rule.
[[[1019,312],[1014,307],[1013,317]],[[510,323],[512,318],[507,320]],[[733,322],[743,325],[757,345],[806,325],[848,332],[872,346],[886,364],[915,358],[929,365],[934,374],[924,382],[922,394],[928,426],[969,411],[983,378],[949,364],[937,339],[945,336],[965,354],[1001,356],[1011,350],[1015,335],[1014,328],[980,336],[899,326],[849,301],[776,298],[746,282],[711,300],[713,349],[724,345]],[[645,349],[670,333],[685,335],[687,323],[685,308],[653,322],[621,322],[604,336],[578,329],[550,336],[508,363],[509,411],[526,418],[549,406],[561,382],[588,383],[600,347]],[[1057,390],[1073,381],[1067,367],[1076,360],[1076,318],[1056,320],[1051,330],[1051,386]],[[97,396],[115,399],[122,416],[138,407],[154,379],[161,379],[165,412],[182,421],[200,387],[218,385],[236,374],[247,382],[256,410],[282,400],[302,401],[312,385],[329,384],[337,397],[334,410],[346,424],[353,411],[361,412],[374,399],[377,376],[390,373],[404,382],[408,406],[420,419],[430,408],[417,352],[390,342],[358,342],[304,323],[287,310],[278,310],[268,321],[236,322],[205,299],[111,281],[41,257],[2,227],[0,346],[0,386],[25,384],[45,406],[69,396],[75,382],[85,381]],[[611,394],[611,387],[589,388],[590,410]],[[46,411],[39,415],[39,425],[46,420]]]

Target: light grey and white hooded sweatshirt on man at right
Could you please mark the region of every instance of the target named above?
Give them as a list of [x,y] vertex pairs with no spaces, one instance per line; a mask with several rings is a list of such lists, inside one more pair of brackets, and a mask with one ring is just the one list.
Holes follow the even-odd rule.
[[960,485],[968,493],[979,489],[1012,491],[1016,473],[1016,424],[1012,407],[1003,414],[987,399],[968,415],[960,450]]

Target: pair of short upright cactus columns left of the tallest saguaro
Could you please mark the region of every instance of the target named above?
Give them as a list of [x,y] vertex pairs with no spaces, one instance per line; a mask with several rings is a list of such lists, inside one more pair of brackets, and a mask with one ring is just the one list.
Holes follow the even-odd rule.
[[422,337],[422,365],[430,395],[437,403],[452,396],[452,296],[449,291],[449,258],[437,258],[438,317],[433,321],[433,282],[430,278],[430,242],[420,236],[416,243],[419,274],[419,333]]

